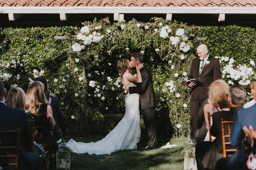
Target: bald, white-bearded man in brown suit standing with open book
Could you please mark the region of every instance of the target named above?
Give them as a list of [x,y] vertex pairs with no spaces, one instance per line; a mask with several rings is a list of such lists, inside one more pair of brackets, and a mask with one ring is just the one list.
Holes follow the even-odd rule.
[[192,130],[200,128],[198,125],[197,115],[199,107],[202,104],[202,99],[208,97],[208,88],[214,80],[221,79],[221,66],[219,60],[209,56],[208,49],[205,44],[197,47],[197,58],[194,58],[191,63],[189,80],[195,79],[201,82],[199,85],[195,82],[188,82],[191,87],[190,112]]

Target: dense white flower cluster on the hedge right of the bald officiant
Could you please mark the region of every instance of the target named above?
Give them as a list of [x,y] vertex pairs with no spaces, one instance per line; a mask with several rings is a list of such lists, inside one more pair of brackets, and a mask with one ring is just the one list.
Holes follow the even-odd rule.
[[[217,57],[215,57],[217,58]],[[218,57],[221,61],[229,61],[229,64],[225,65],[222,70],[222,78],[231,79],[228,80],[229,84],[234,84],[233,80],[238,81],[240,85],[246,86],[250,84],[249,77],[254,74],[251,67],[247,67],[246,64],[239,65],[237,68],[233,67],[234,59],[229,59],[228,57]]]

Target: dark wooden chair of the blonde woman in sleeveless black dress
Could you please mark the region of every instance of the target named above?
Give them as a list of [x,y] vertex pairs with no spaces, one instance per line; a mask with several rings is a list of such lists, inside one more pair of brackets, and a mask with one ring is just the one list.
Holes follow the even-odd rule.
[[[34,141],[40,144],[43,144],[43,137],[48,132],[48,119],[46,114],[33,114],[35,128],[37,129],[37,135],[34,137]],[[46,149],[46,148],[45,148]],[[43,169],[52,169],[55,167],[55,164],[52,163],[52,152],[49,150],[46,158],[43,159]]]

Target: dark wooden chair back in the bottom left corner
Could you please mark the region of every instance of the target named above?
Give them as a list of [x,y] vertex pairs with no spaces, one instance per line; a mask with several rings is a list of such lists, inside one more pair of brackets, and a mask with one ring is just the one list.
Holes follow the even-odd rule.
[[[0,130],[0,166],[19,167],[19,143],[21,130]],[[14,158],[12,160],[12,158]]]

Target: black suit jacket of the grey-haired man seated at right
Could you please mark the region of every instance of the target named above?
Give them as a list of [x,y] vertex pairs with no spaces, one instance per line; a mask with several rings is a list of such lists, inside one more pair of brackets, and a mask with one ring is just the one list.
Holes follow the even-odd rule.
[[[234,120],[237,111],[242,108],[243,107],[233,107],[230,108],[230,111],[220,111],[213,113],[213,125],[211,126],[211,135],[215,136],[216,139],[211,143],[211,146],[207,148],[205,157],[203,159],[203,167],[214,169],[217,160],[223,158],[221,119],[225,121]],[[225,128],[225,130],[225,134],[228,134],[227,127]]]

